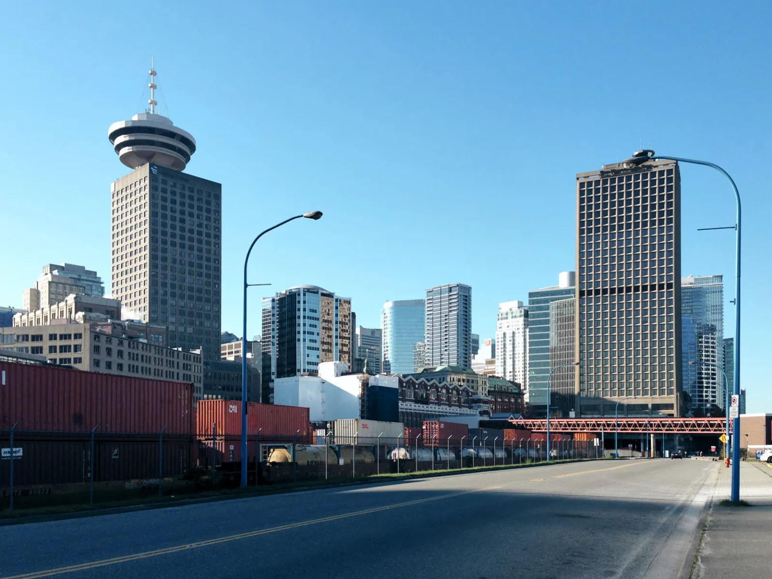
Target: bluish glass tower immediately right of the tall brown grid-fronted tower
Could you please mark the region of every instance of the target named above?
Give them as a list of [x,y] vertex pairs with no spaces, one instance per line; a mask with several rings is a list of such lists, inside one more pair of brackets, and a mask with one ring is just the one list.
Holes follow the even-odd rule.
[[692,411],[724,408],[723,276],[681,279],[682,389]]

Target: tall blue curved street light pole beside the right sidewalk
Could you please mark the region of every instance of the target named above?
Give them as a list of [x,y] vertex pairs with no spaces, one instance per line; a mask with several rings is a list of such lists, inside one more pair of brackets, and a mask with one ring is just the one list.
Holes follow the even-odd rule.
[[[683,157],[671,157],[669,155],[658,155],[654,151],[636,151],[630,159],[624,161],[631,164],[642,164],[649,160],[659,159],[661,161],[678,161],[679,163],[690,163],[696,165],[703,165],[705,167],[711,167],[723,174],[724,177],[729,179],[730,184],[734,190],[734,198],[737,206],[735,229],[735,263],[734,263],[734,305],[735,305],[735,324],[734,324],[734,394],[740,395],[740,258],[741,253],[741,235],[740,226],[741,222],[741,203],[740,203],[740,191],[737,190],[734,179],[729,173],[723,170],[715,163],[709,161],[698,161],[696,159],[686,159]],[[717,228],[723,229],[723,228]],[[727,228],[731,229],[731,228]],[[728,408],[727,408],[728,410]],[[740,417],[734,419],[732,423],[732,435],[734,443],[732,445],[732,503],[737,503],[740,500],[740,444],[736,441],[740,440]]]

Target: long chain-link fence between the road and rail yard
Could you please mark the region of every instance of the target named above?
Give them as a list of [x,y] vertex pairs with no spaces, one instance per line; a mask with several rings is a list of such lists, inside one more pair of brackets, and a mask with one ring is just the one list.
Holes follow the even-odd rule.
[[[546,442],[406,439],[258,432],[247,444],[249,486],[317,483],[409,472],[527,465],[547,461]],[[0,511],[188,496],[239,486],[237,434],[0,431]],[[599,459],[590,442],[557,441],[550,459]]]

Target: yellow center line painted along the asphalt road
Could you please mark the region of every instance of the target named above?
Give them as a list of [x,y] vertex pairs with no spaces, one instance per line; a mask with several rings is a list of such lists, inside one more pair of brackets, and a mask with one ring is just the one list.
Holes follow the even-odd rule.
[[[562,479],[566,476],[586,475],[592,472],[603,472],[606,470],[624,469],[625,467],[634,466],[634,465],[635,465],[635,462],[631,464],[621,465],[621,466],[611,466],[607,469],[592,469],[592,470],[583,470],[580,472],[570,472],[565,475],[551,476],[547,478],[547,480]],[[530,482],[540,482],[543,480],[545,479],[532,479]],[[283,531],[283,530],[298,529],[300,527],[309,527],[310,525],[317,525],[320,523],[329,523],[330,521],[334,521],[334,520],[347,519],[351,516],[367,515],[370,513],[380,513],[381,511],[384,511],[384,510],[398,509],[403,506],[419,505],[422,503],[430,503],[435,500],[450,499],[454,496],[463,496],[463,495],[469,495],[472,493],[483,493],[488,490],[502,489],[505,486],[514,486],[515,484],[522,484],[522,483],[511,483],[509,485],[505,484],[501,486],[487,486],[484,489],[472,489],[472,490],[462,491],[461,493],[450,493],[442,496],[432,496],[431,498],[428,498],[428,499],[417,499],[417,500],[407,501],[405,503],[396,503],[394,505],[378,506],[378,507],[375,507],[374,509],[358,510],[358,511],[354,511],[354,513],[344,513],[341,515],[325,516],[321,519],[306,520],[300,523],[290,523],[289,525],[282,525],[280,527],[271,527],[269,529],[250,531],[249,533],[239,533],[237,535],[229,535],[228,537],[220,537],[218,539],[198,541],[196,543],[186,543],[185,545],[178,545],[177,547],[167,547],[165,549],[144,551],[144,553],[124,555],[124,557],[113,557],[111,559],[91,561],[90,563],[70,565],[69,567],[57,567],[56,569],[47,569],[45,571],[33,571],[32,573],[23,573],[20,575],[9,575],[8,577],[0,577],[0,579],[39,579],[39,577],[53,577],[55,575],[62,575],[65,573],[75,573],[76,571],[88,571],[90,569],[97,569],[99,567],[107,567],[107,566],[116,565],[119,563],[128,563],[130,561],[148,559],[150,557],[157,557],[159,555],[168,555],[171,553],[179,553],[185,550],[199,549],[201,547],[209,547],[210,545],[218,545],[220,543],[230,543],[236,540],[249,539],[251,537],[259,537],[261,535],[267,535],[269,533],[278,533],[279,531]]]

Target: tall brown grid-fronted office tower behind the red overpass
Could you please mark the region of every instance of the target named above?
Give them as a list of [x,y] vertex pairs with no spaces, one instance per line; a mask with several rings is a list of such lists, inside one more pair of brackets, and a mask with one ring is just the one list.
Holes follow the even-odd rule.
[[681,415],[681,180],[675,161],[577,174],[581,415]]

